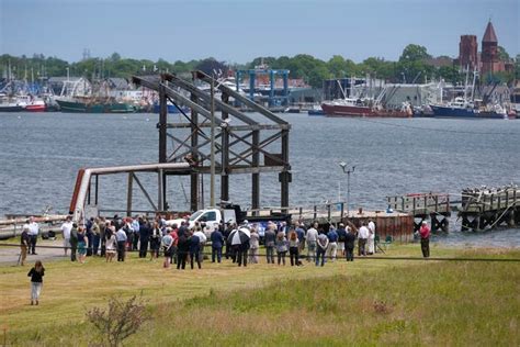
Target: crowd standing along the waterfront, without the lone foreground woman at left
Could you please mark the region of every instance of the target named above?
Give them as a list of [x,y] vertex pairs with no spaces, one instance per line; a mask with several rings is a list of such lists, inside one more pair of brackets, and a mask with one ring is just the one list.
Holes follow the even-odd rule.
[[[429,232],[423,224],[421,245],[423,256],[429,256]],[[22,233],[22,265],[27,250],[35,254],[38,226],[34,220],[27,221]],[[291,266],[303,265],[302,260],[324,266],[329,259],[336,261],[344,257],[347,261],[354,259],[354,246],[358,244],[358,256],[375,254],[375,223],[363,222],[358,228],[352,223],[318,225],[308,227],[304,223],[286,224],[269,222],[267,227],[244,221],[239,225],[234,221],[221,222],[218,227],[210,230],[196,223],[189,227],[185,220],[180,225],[168,225],[163,216],[155,219],[146,216],[113,219],[92,217],[82,225],[77,225],[71,217],[61,225],[64,253],[70,260],[84,262],[88,256],[101,256],[108,262],[125,261],[127,251],[137,251],[139,258],[150,260],[163,256],[163,266],[172,264],[178,269],[185,269],[186,264],[193,269],[202,268],[205,246],[211,247],[211,261],[222,262],[223,258],[231,259],[238,266],[258,264],[260,245],[265,247],[267,264],[285,265],[289,254]],[[33,235],[36,237],[33,238]],[[306,249],[306,251],[305,251]],[[210,251],[208,251],[210,254]]]

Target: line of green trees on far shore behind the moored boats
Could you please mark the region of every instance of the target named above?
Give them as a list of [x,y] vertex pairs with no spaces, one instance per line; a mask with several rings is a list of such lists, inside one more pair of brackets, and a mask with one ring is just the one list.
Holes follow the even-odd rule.
[[[509,59],[509,55],[499,47],[502,59]],[[497,72],[494,76],[483,76],[479,82],[506,82],[511,85],[520,79],[520,54],[516,56],[516,68],[512,72]],[[219,61],[213,57],[174,63],[159,58],[157,61],[149,59],[122,58],[114,53],[106,58],[88,58],[77,63],[68,63],[57,57],[45,57],[35,54],[33,57],[15,57],[8,54],[0,56],[1,76],[11,76],[18,79],[45,79],[55,76],[82,76],[89,79],[103,79],[109,77],[128,78],[132,75],[150,75],[159,72],[173,72],[189,76],[195,69],[206,74],[226,75],[229,70],[253,69],[261,63],[272,69],[289,69],[290,78],[303,79],[314,88],[321,88],[324,80],[331,78],[349,78],[370,76],[388,82],[425,82],[432,79],[444,79],[451,83],[463,83],[465,74],[453,64],[453,59],[446,56],[433,58],[425,46],[409,44],[403,49],[397,61],[385,60],[380,57],[369,57],[361,63],[340,55],[335,55],[327,61],[313,57],[308,54],[298,54],[294,57],[258,57],[244,65]]]

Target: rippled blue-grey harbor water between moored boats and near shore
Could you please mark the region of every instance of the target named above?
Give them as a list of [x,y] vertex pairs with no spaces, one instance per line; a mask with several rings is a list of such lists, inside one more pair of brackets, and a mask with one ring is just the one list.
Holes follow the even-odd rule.
[[[344,201],[347,175],[340,161],[355,166],[350,175],[352,209],[385,210],[387,195],[432,191],[457,200],[466,187],[520,184],[518,120],[281,116],[292,124],[290,203],[294,206]],[[46,206],[52,206],[52,213],[67,213],[82,167],[157,161],[157,114],[0,114],[0,216],[39,214]],[[157,178],[145,175],[139,180],[155,187]],[[206,177],[206,202],[208,186]],[[100,187],[101,209],[125,208],[125,176],[103,177]],[[218,180],[216,187],[218,198]],[[248,206],[250,190],[248,176],[231,176],[233,202]],[[170,177],[170,209],[188,210],[186,195],[188,178]],[[135,191],[134,197],[135,209],[150,210],[144,194]],[[261,205],[280,205],[276,174],[261,175]],[[519,228],[460,233],[455,217],[453,222],[453,232],[438,236],[439,242],[520,247]]]

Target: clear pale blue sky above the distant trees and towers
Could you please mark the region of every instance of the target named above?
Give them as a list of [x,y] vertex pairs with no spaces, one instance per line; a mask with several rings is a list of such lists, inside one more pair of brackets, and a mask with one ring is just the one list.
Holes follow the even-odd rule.
[[309,54],[397,60],[408,44],[459,55],[481,47],[491,20],[498,44],[520,53],[520,0],[0,0],[0,54],[168,61]]

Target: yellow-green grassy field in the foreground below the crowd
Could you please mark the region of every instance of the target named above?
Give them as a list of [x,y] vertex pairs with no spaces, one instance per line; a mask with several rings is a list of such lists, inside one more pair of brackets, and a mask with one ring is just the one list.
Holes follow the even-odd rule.
[[[388,256],[419,257],[418,245]],[[443,257],[520,258],[520,250],[433,247]],[[86,310],[142,294],[151,321],[127,345],[518,346],[520,264],[357,260],[163,269],[161,260],[44,264],[39,306],[29,268],[0,267],[0,327],[12,345],[97,342]],[[0,340],[3,336],[0,337]]]

